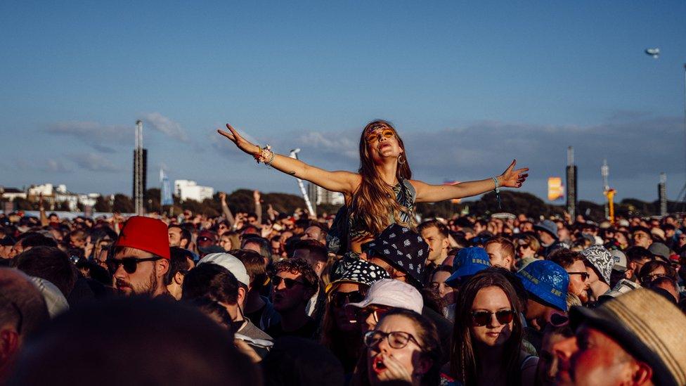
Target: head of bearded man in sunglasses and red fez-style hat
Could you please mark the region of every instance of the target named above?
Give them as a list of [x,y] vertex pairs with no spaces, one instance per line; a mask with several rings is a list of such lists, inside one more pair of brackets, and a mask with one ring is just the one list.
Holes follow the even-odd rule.
[[167,225],[157,219],[136,216],[124,224],[108,266],[117,289],[124,295],[164,296],[173,300],[164,285],[169,259]]

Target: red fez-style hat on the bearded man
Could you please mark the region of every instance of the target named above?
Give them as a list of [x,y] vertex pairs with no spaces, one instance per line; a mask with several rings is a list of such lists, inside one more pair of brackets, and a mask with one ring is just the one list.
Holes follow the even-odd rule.
[[169,259],[167,224],[150,217],[131,217],[124,223],[115,247],[136,248]]

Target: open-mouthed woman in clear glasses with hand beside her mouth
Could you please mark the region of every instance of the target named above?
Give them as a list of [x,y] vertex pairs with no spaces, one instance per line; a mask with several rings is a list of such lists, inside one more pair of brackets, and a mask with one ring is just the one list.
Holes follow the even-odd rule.
[[364,335],[367,348],[358,361],[351,385],[402,382],[438,385],[441,345],[432,321],[407,309],[385,314]]

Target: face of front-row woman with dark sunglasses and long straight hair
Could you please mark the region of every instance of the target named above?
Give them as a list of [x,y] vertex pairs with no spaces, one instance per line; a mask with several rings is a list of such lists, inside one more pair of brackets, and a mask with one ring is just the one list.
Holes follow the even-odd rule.
[[501,323],[496,312],[508,310],[512,311],[512,304],[507,299],[505,291],[496,286],[481,288],[477,292],[477,296],[474,297],[472,315],[482,312],[490,312],[491,314],[485,326],[477,326],[477,323],[472,323],[470,326],[472,339],[489,347],[500,346],[507,342],[512,335],[514,318],[510,319],[508,323]]

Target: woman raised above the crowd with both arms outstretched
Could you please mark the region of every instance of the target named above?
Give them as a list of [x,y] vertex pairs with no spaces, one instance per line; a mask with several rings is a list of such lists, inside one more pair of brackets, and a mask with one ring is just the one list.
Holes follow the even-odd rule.
[[[281,172],[310,181],[328,191],[343,193],[347,207],[347,235],[340,240],[341,250],[356,254],[361,245],[373,240],[390,224],[415,226],[415,202],[437,202],[478,195],[494,188],[519,188],[526,180],[528,169],[514,169],[515,162],[500,176],[458,185],[429,185],[410,180],[412,172],[405,145],[389,122],[375,120],[363,129],[359,141],[360,168],[357,173],[329,172],[307,165],[286,155],[274,153],[268,146],[260,148],[244,139],[231,125],[218,130],[240,150]],[[345,210],[344,210],[345,211]],[[343,212],[339,212],[343,213]]]

